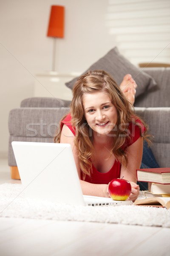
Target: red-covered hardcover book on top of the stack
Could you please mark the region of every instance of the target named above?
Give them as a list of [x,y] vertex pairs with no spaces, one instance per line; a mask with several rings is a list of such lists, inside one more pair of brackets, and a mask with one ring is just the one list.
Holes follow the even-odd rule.
[[138,181],[170,184],[170,168],[137,169],[136,177]]

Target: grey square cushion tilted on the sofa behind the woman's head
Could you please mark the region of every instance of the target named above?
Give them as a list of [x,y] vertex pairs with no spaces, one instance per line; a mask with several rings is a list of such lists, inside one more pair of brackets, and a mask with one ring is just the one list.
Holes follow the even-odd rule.
[[[105,70],[113,76],[117,84],[121,84],[126,74],[131,74],[138,85],[136,88],[136,97],[156,86],[156,81],[150,75],[130,63],[130,61],[120,54],[117,47],[111,49],[105,56],[92,64],[88,70]],[[77,78],[67,82],[65,85],[72,89]]]

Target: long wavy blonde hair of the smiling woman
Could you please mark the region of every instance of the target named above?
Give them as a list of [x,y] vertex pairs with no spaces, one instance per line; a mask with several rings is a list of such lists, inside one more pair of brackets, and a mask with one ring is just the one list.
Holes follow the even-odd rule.
[[[138,125],[141,131],[141,136],[146,138],[147,125],[141,120],[144,126],[136,123],[138,116],[134,114],[133,106],[126,99],[119,86],[113,77],[106,73],[104,70],[88,71],[84,75],[80,76],[73,87],[73,99],[70,106],[71,124],[75,127],[75,146],[79,152],[79,164],[82,171],[82,177],[85,179],[85,175],[91,174],[92,161],[93,161],[93,133],[84,116],[82,96],[86,93],[105,92],[110,96],[112,104],[116,107],[118,113],[118,119],[116,123],[116,129],[114,130],[114,139],[111,149],[111,154],[114,154],[116,160],[118,160],[124,166],[127,166],[127,154],[126,150],[123,150],[123,145],[126,140],[131,140],[130,134],[127,134],[128,126],[130,122]],[[62,120],[65,116],[62,118]],[[121,128],[120,128],[121,127]],[[143,131],[143,128],[146,131]],[[60,141],[61,129],[58,131],[55,137],[55,142]]]

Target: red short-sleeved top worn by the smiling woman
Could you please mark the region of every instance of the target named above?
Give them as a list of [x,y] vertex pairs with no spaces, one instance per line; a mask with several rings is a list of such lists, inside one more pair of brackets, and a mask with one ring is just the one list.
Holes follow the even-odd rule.
[[[146,128],[144,128],[142,122],[139,119],[137,119],[136,122],[141,126],[142,132],[144,132]],[[75,128],[71,125],[71,114],[70,113],[62,121],[61,128],[63,127],[63,125],[67,125],[68,128],[74,134],[74,136],[76,135]],[[131,122],[129,124],[129,131],[130,131],[130,134],[131,134],[131,138],[129,140],[125,141],[125,144],[123,145],[124,150],[128,146],[135,143],[135,141],[138,140],[139,137],[141,136],[141,131],[140,131],[139,126],[134,125]],[[95,183],[95,184],[108,184],[114,178],[120,178],[120,171],[121,171],[121,163],[117,160],[114,161],[113,166],[110,169],[110,171],[105,172],[105,173],[99,172],[94,167],[94,165],[92,165],[91,177],[86,175],[85,181],[90,182],[90,183]],[[81,174],[81,178],[82,178],[82,174]]]

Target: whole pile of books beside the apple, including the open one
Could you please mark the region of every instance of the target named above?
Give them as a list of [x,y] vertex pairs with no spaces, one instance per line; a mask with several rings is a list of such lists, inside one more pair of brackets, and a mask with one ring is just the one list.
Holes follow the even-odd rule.
[[170,207],[170,168],[137,169],[137,180],[148,182],[148,190],[143,191],[145,199],[135,204],[156,204]]

